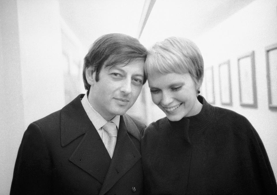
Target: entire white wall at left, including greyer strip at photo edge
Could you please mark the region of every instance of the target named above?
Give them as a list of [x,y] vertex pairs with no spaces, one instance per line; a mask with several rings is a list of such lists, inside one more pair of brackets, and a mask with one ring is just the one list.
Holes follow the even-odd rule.
[[0,1],[0,194],[27,126],[64,106],[59,4]]

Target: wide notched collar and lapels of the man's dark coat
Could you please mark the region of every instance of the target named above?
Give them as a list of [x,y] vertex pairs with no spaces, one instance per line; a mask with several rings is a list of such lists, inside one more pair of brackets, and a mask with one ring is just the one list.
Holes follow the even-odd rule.
[[120,116],[111,159],[81,104],[83,95],[78,95],[61,109],[61,146],[65,147],[85,134],[69,160],[102,183],[100,194],[105,194],[141,158],[128,133],[138,140],[140,134],[128,115]]

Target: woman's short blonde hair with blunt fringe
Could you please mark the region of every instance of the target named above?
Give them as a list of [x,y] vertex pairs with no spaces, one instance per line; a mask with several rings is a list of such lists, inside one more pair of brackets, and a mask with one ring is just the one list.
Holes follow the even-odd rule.
[[169,37],[155,43],[148,51],[145,75],[152,73],[190,73],[199,90],[204,76],[204,62],[199,48],[186,38]]

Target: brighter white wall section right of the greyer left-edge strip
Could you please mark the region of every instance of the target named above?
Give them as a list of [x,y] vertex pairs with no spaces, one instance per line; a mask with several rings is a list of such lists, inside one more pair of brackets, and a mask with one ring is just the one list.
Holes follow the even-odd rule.
[[59,3],[17,1],[25,127],[64,105]]

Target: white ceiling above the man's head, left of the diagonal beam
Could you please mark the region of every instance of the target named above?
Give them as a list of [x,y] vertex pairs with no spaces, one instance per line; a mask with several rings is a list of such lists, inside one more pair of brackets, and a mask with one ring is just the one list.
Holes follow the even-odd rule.
[[85,50],[108,33],[136,36],[143,0],[59,0],[61,17]]

